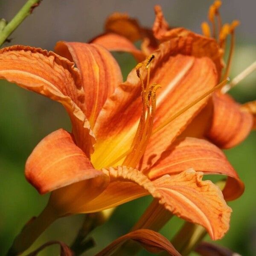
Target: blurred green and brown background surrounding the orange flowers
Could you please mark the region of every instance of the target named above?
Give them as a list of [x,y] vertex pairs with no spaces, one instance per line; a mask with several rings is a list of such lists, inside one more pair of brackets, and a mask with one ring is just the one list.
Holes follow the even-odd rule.
[[[11,19],[25,1],[0,1],[0,17]],[[106,3],[108,2],[108,3]],[[105,17],[113,11],[128,12],[141,23],[151,26],[153,6],[163,6],[171,25],[200,30],[212,1],[67,1],[44,0],[11,36],[11,44],[27,44],[53,49],[58,40],[87,41],[102,32]],[[246,3],[246,4],[245,4]],[[224,22],[241,20],[237,29],[236,52],[230,77],[233,78],[256,60],[255,1],[225,1],[222,8]],[[252,11],[254,10],[254,11]],[[254,22],[253,22],[254,19]],[[253,25],[254,24],[254,25]],[[128,54],[114,54],[122,67],[124,79],[136,64]],[[237,101],[256,99],[256,73],[244,79],[230,92]],[[0,81],[0,255],[6,253],[15,235],[47,203],[48,195],[38,195],[26,182],[24,164],[35,145],[58,128],[70,130],[70,121],[64,109],[56,102],[23,90],[6,81]],[[256,132],[236,148],[225,151],[228,159],[245,183],[245,192],[230,202],[233,209],[231,226],[224,239],[216,241],[243,256],[256,255]],[[127,233],[138,220],[151,198],[145,197],[116,209],[108,223],[96,229],[92,236],[97,246],[86,255],[94,255],[117,237]],[[59,219],[35,242],[36,248],[49,240],[69,244],[83,221],[83,215]],[[171,238],[183,221],[172,218],[161,230]],[[209,237],[207,236],[207,240]],[[57,255],[52,246],[39,255]],[[140,255],[151,255],[143,251]]]

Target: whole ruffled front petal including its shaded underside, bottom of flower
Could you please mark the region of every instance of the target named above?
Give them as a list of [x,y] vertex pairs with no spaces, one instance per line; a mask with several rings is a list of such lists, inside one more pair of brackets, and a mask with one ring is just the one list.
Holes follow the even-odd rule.
[[96,212],[151,194],[177,216],[204,226],[212,239],[221,238],[229,227],[231,209],[221,190],[211,181],[202,181],[202,172],[188,170],[149,180],[137,169],[118,166],[103,169],[110,177],[108,187],[88,202],[81,212]]

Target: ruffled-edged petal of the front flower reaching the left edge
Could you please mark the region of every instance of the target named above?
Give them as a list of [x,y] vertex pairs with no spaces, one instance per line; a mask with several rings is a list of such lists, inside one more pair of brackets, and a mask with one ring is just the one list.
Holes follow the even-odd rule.
[[0,79],[60,102],[70,116],[76,143],[90,156],[95,139],[84,115],[84,90],[73,63],[39,48],[6,47],[0,50]]

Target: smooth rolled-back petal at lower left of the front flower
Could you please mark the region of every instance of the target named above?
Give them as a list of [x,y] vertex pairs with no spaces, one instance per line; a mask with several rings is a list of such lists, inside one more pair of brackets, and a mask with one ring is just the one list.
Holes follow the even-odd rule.
[[93,168],[72,135],[63,129],[52,132],[35,147],[26,161],[25,175],[41,194],[105,176]]

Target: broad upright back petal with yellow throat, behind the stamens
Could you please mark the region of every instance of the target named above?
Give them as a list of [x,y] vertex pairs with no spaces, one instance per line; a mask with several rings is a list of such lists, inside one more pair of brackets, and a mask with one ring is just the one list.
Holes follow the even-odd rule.
[[[209,58],[189,56],[187,46],[190,43],[191,41],[186,38],[174,38],[161,44],[160,50],[154,52],[150,84],[156,82],[161,85],[157,93],[154,128],[216,84],[217,74],[214,64]],[[144,73],[144,79],[146,79],[145,75]],[[142,110],[140,93],[140,80],[134,69],[127,81],[117,87],[106,101],[93,130],[97,145],[92,155],[92,163],[96,168],[109,166],[114,160],[113,157],[118,158],[130,148]],[[206,102],[207,98],[198,102],[152,135],[146,152],[147,158],[152,155],[159,156]]]

